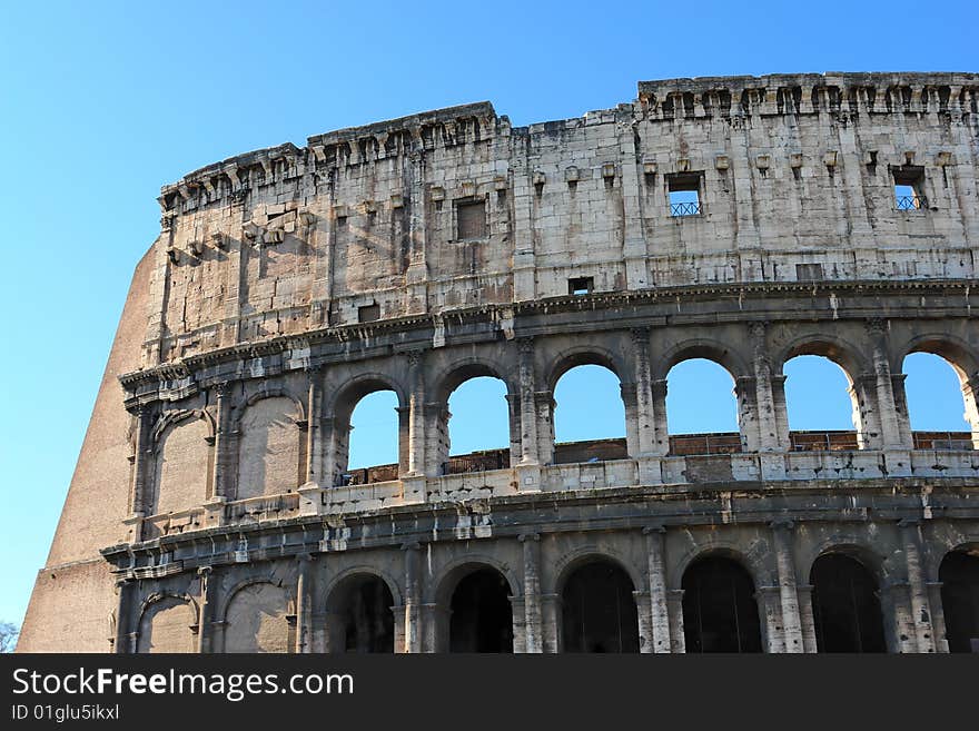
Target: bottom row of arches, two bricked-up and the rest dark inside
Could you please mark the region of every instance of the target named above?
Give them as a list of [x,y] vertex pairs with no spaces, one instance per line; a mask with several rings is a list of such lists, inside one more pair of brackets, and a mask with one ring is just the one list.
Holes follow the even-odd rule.
[[[810,571],[811,612],[819,652],[886,652],[887,622],[880,577],[851,546],[821,554]],[[950,652],[979,652],[979,556],[949,552],[939,567]],[[634,579],[614,559],[577,562],[560,587],[558,648],[563,652],[639,652],[641,633]],[[682,577],[685,652],[761,652],[765,623],[751,573],[733,555],[709,553]],[[377,573],[344,576],[329,591],[324,621],[332,652],[394,652],[397,585]],[[472,562],[442,582],[436,650],[512,652],[518,593],[500,567]],[[156,594],[142,607],[139,652],[195,651],[198,607],[190,596]],[[224,616],[225,652],[290,652],[295,604],[274,582],[233,591]]]

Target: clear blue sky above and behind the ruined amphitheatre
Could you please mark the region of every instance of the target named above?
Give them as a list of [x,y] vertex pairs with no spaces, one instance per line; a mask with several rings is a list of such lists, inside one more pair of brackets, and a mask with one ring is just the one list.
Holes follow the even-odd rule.
[[[159,230],[161,185],[247,150],[483,99],[526,125],[629,101],[640,79],[979,66],[975,2],[793,6],[4,3],[0,619],[20,621],[44,563],[134,266]],[[558,439],[621,435],[614,378],[582,374],[560,386]],[[711,384],[686,394],[708,399],[688,412],[702,421],[671,413],[671,428],[732,427],[730,378]],[[484,446],[461,426],[461,399],[482,403],[479,387],[452,404],[465,448]],[[576,409],[584,398],[595,408]],[[823,401],[803,408],[811,427],[846,427],[849,403],[817,412]],[[960,428],[961,403],[946,401],[936,424]]]

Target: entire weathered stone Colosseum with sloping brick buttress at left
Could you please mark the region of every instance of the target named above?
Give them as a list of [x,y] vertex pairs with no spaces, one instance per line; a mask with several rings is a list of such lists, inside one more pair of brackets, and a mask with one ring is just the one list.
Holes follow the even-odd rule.
[[[20,651],[979,650],[977,106],[967,73],[643,81],[165,186]],[[914,353],[971,432],[911,429]],[[846,372],[852,431],[790,431],[803,355]],[[691,358],[738,432],[670,434]],[[555,444],[580,365],[624,439]],[[481,376],[510,445],[456,454]],[[397,463],[350,470],[376,391]]]

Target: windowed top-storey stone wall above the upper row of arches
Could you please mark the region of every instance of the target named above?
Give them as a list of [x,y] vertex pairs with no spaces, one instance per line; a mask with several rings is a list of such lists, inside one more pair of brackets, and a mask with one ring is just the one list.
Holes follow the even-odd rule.
[[576,119],[482,102],[238,156],[162,189],[144,366],[573,290],[971,279],[977,105],[979,75],[674,79]]

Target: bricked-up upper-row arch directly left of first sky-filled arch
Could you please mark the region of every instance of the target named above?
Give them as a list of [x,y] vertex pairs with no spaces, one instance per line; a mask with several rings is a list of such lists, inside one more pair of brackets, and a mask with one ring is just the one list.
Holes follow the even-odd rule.
[[305,477],[305,412],[279,388],[253,394],[236,415],[238,500],[296,490]]

